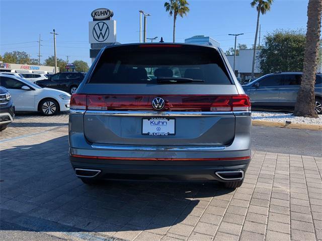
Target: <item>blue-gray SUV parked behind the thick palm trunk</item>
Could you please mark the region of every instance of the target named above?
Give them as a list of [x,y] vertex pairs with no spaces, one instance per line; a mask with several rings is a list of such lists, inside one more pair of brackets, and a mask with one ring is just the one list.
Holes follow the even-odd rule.
[[[244,85],[253,109],[294,110],[297,92],[301,84],[301,72],[279,72],[266,74]],[[322,113],[322,74],[315,78],[315,110]]]

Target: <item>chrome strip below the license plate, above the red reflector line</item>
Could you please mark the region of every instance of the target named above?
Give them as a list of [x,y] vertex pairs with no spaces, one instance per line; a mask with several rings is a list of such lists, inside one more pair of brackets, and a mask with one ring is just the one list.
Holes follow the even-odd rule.
[[96,149],[105,150],[136,150],[136,151],[151,151],[151,150],[165,150],[165,151],[213,151],[213,150],[223,150],[226,146],[107,146],[107,145],[92,145]]

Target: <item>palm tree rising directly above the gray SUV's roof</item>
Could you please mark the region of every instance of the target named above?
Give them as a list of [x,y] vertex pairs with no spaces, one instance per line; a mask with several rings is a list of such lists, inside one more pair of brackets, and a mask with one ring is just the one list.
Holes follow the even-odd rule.
[[176,20],[179,15],[181,18],[187,16],[190,11],[188,7],[189,3],[187,0],[170,0],[170,2],[165,3],[166,11],[169,12],[169,15],[173,15],[173,42],[176,39]]

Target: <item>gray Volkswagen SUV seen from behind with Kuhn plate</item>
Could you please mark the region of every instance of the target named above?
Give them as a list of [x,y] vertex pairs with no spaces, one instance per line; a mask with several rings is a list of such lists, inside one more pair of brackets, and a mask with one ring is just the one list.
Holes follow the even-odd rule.
[[239,187],[251,159],[251,106],[221,49],[103,48],[70,101],[77,177],[220,181]]

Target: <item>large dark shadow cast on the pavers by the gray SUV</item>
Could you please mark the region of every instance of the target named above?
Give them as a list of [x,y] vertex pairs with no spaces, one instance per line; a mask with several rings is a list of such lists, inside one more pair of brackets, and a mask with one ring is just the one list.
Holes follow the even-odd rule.
[[189,215],[198,219],[212,197],[231,192],[217,183],[106,181],[87,186],[69,164],[67,136],[18,145],[0,157],[2,230],[106,234],[162,229]]

